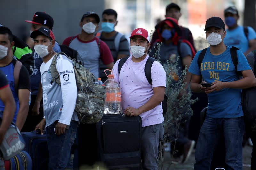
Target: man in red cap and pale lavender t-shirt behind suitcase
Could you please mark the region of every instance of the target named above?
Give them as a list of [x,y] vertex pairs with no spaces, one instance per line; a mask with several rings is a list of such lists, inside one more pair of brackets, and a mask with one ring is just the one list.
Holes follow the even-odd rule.
[[[118,60],[112,71],[122,89],[124,114],[140,115],[142,119],[142,169],[157,169],[158,145],[164,135],[163,110],[159,103],[164,100],[166,73],[163,66],[147,54],[149,46],[148,31],[143,28],[133,30],[130,36],[132,56]],[[150,70],[154,71],[150,71],[151,79],[147,79],[145,65],[152,59]],[[120,72],[119,62],[123,63]]]

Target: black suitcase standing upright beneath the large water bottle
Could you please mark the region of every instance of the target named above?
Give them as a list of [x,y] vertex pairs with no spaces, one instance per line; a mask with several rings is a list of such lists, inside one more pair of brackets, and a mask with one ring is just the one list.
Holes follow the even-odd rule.
[[108,169],[141,170],[140,116],[103,115],[97,135],[99,158]]

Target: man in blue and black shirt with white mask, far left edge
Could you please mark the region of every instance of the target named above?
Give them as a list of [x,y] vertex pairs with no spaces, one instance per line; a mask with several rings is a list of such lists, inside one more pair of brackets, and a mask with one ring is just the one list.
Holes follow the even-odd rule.
[[[15,100],[13,122],[21,130],[28,115],[30,78],[28,70],[13,58],[13,45],[11,30],[0,27],[0,70],[5,74]],[[4,108],[4,102],[0,100],[0,111],[4,111]]]

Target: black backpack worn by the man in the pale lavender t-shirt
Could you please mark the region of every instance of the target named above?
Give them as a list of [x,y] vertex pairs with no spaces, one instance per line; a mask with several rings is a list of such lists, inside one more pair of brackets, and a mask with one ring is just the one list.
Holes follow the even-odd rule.
[[[119,61],[119,63],[118,63],[118,75],[120,75],[121,68],[123,67],[124,63],[126,62],[126,60],[128,58],[129,57],[124,57],[124,58],[121,58],[121,60]],[[155,61],[156,60],[153,57],[148,57],[148,60],[146,61],[145,68],[144,68],[145,76],[146,76],[146,78],[148,80],[148,83],[150,85],[152,85],[151,67],[152,67],[152,65]],[[162,103],[159,104],[159,105],[162,104],[163,115],[167,112],[167,99],[168,99],[168,97],[164,94],[164,100],[162,101]]]

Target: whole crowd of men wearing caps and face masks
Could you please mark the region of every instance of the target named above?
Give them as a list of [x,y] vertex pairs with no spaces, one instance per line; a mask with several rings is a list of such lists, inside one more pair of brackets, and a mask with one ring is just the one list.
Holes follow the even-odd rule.
[[[140,115],[142,169],[157,169],[158,145],[164,137],[163,109],[159,103],[164,100],[167,77],[164,64],[167,61],[178,62],[177,77],[180,77],[182,70],[189,68],[184,80],[186,90],[179,97],[186,95],[191,88],[193,95],[201,93],[196,103],[200,107],[200,102],[205,100],[206,95],[208,97],[207,114],[200,133],[197,129],[198,136],[189,138],[188,125],[191,122],[189,117],[186,118],[187,121],[179,128],[177,148],[172,147],[172,152],[178,151],[173,159],[180,161],[182,158],[184,163],[196,145],[195,169],[209,169],[213,152],[218,149],[218,141],[224,137],[227,169],[242,169],[246,123],[241,89],[256,86],[252,53],[256,50],[256,33],[252,27],[237,24],[238,11],[231,6],[224,11],[227,29],[219,17],[206,21],[204,31],[210,47],[197,49],[196,53],[192,33],[179,25],[180,17],[180,7],[171,3],[166,7],[165,19],[156,25],[151,40],[145,28],[134,29],[130,40],[127,40],[122,33],[115,31],[118,24],[115,10],[104,10],[101,20],[98,14],[88,11],[77,23],[81,32],[66,38],[62,44],[55,40],[52,32],[54,20],[45,12],[36,12],[31,21],[26,20],[31,24],[30,37],[26,41],[28,45],[1,25],[0,143],[10,123],[14,122],[21,132],[36,129],[42,134],[46,132],[49,169],[72,169],[70,151],[76,136],[79,165],[93,165],[98,161],[96,123],[79,124],[74,111],[77,97],[75,71],[65,55],[60,54],[56,60],[60,85],[52,82],[53,56],[65,53],[69,47],[77,51],[77,58],[96,79],[101,78],[104,82],[107,77],[103,70],[112,70],[122,89],[123,113]],[[159,43],[162,43],[160,50],[156,50]],[[237,64],[232,59],[232,51],[235,51]],[[129,58],[120,71],[119,62],[124,57]],[[152,64],[151,83],[142,71],[150,57],[159,61]],[[243,78],[239,78],[237,72],[241,72]],[[256,133],[251,129],[246,133],[254,144],[251,168],[255,169]]]

